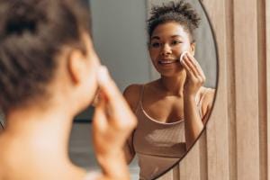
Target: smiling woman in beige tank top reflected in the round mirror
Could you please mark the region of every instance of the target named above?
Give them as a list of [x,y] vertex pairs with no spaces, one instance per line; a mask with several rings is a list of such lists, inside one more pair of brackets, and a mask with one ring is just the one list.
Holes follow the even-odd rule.
[[205,76],[193,58],[199,22],[184,1],[152,8],[148,50],[160,78],[124,91],[139,121],[124,149],[128,162],[138,155],[140,179],[152,179],[183,157],[210,115],[214,89],[202,86]]

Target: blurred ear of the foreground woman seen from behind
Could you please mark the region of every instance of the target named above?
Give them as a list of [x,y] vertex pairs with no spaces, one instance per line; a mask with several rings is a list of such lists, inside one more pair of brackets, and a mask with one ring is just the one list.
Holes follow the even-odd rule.
[[68,56],[67,69],[74,84],[80,83],[85,77],[85,56],[79,49],[73,49]]

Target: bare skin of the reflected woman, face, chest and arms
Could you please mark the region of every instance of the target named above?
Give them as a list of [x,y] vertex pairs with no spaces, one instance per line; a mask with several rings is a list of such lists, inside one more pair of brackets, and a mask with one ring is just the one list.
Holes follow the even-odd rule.
[[[205,91],[205,76],[199,63],[193,58],[195,43],[189,32],[179,23],[159,24],[150,37],[148,51],[153,66],[160,78],[144,87],[143,109],[160,122],[175,122],[184,118],[186,148],[190,148],[203,129],[211,112],[214,90],[209,91],[202,101],[202,118],[198,112],[195,96]],[[180,56],[188,51],[180,62]],[[135,112],[141,85],[130,85],[124,96]],[[135,155],[132,139],[124,148],[127,162]]]

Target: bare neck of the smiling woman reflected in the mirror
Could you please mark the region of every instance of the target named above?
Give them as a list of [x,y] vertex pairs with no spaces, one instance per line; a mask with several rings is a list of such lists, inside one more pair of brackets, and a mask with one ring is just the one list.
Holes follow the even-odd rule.
[[184,73],[181,73],[181,75],[178,76],[161,76],[157,82],[161,88],[166,91],[166,94],[177,96],[183,96],[184,94]]

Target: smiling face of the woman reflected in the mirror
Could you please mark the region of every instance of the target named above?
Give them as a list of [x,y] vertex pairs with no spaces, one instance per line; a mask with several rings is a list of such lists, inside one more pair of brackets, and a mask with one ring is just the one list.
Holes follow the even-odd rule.
[[163,23],[150,37],[149,54],[154,67],[162,76],[175,76],[184,68],[180,56],[184,51],[194,54],[195,44],[179,23]]

